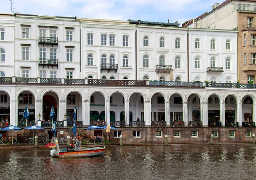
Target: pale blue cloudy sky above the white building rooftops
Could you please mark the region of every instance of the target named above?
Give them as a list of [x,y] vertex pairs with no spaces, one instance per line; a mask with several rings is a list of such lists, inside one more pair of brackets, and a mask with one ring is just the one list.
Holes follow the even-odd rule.
[[[0,13],[9,13],[11,0],[0,0]],[[14,12],[109,20],[184,23],[225,0],[12,0]]]

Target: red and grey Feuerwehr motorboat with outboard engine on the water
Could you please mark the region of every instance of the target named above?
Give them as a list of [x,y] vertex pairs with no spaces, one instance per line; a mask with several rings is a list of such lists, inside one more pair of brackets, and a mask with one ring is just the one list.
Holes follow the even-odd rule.
[[[84,158],[104,155],[106,147],[81,147],[81,141],[76,141],[75,149],[60,149],[58,145],[58,139],[52,138],[48,147],[52,147],[50,150],[50,156],[52,158]],[[55,149],[55,147],[57,149]]]

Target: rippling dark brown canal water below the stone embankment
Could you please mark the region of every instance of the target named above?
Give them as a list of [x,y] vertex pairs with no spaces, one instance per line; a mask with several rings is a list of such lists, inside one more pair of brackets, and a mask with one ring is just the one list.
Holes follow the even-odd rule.
[[253,180],[256,145],[107,146],[94,158],[57,159],[48,148],[0,148],[1,180]]

